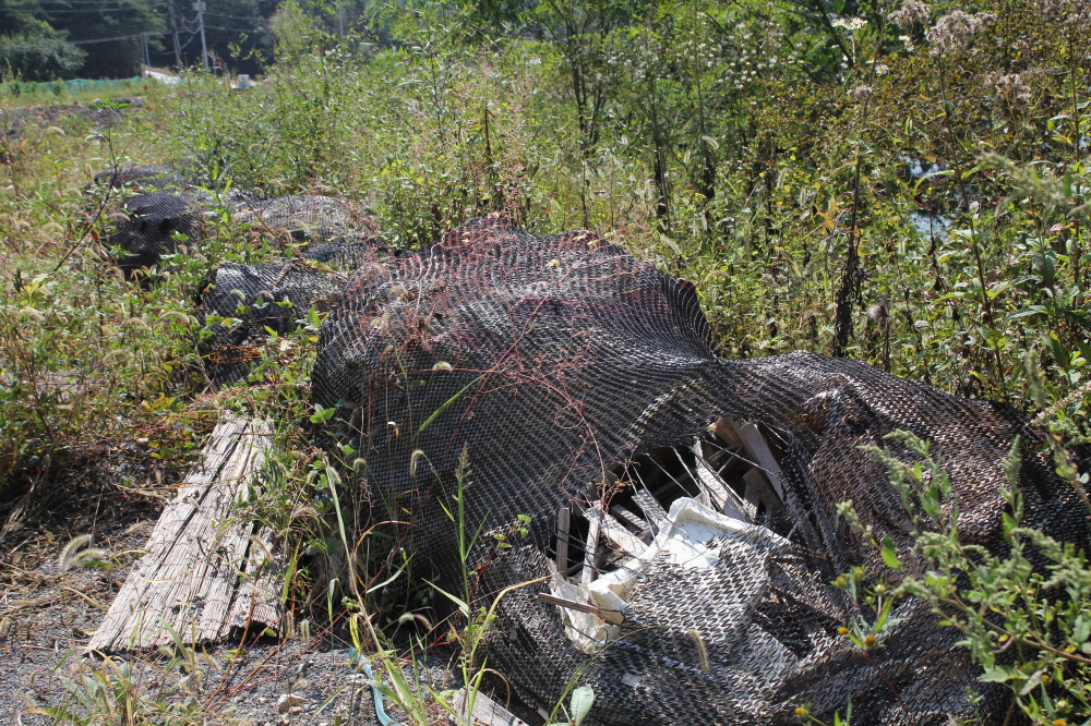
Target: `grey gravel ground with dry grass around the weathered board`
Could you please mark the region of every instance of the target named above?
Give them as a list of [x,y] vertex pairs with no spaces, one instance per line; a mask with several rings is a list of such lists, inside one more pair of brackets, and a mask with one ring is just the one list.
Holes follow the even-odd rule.
[[[110,495],[103,477],[86,476],[80,486],[63,488],[63,496],[43,498],[32,517],[0,547],[0,724],[27,726],[53,723],[51,717],[27,713],[31,709],[72,709],[80,697],[99,697],[96,724],[125,723],[118,714],[108,717],[109,704],[118,703],[105,689],[96,691],[96,674],[128,671],[124,680],[140,701],[141,711],[155,723],[163,716],[189,713],[179,724],[239,724],[257,726],[347,726],[376,724],[367,677],[349,666],[350,643],[341,628],[311,628],[310,639],[249,639],[245,648],[224,643],[199,649],[195,668],[164,653],[122,655],[104,664],[83,654],[89,636],[105,609],[140,557],[151,528],[170,495],[177,473],[154,472],[147,464],[129,459],[98,462],[109,470],[109,481],[133,481],[159,486],[155,496]],[[143,471],[141,468],[143,467]],[[152,474],[155,473],[155,476]],[[97,492],[96,492],[97,489]],[[144,494],[149,492],[142,491]],[[97,497],[95,496],[97,494]],[[76,567],[62,571],[59,557],[76,534],[94,531],[95,547],[109,552],[100,567]],[[437,662],[427,664],[422,680],[441,690],[448,687],[448,673]],[[76,695],[64,680],[85,686]],[[89,683],[89,686],[87,686]],[[288,713],[280,703],[286,695],[302,699]],[[398,719],[397,709],[387,704]],[[442,710],[429,707],[431,723],[445,723]],[[156,714],[159,714],[156,717]],[[136,723],[146,723],[137,718]]]

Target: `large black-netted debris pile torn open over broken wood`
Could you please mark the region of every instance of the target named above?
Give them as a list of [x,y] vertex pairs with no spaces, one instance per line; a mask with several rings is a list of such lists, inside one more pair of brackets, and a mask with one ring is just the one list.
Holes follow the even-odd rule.
[[850,695],[853,723],[946,724],[973,715],[968,686],[983,723],[1003,719],[1004,689],[976,682],[921,602],[872,651],[880,675],[837,634],[852,606],[828,583],[859,562],[894,577],[836,516],[844,499],[921,567],[885,470],[858,448],[896,428],[934,441],[966,541],[1000,543],[1000,462],[1019,435],[1027,523],[1087,543],[1082,506],[1019,416],[852,361],[719,360],[693,286],[588,232],[478,220],[361,262],[312,375],[315,401],[338,407],[327,434],[367,455],[379,516],[407,522],[416,572],[448,592],[461,562],[441,503],[465,447],[475,600],[533,581],[503,597],[488,642],[528,703],[550,707],[585,668],[601,724],[787,724],[805,702],[830,719]]

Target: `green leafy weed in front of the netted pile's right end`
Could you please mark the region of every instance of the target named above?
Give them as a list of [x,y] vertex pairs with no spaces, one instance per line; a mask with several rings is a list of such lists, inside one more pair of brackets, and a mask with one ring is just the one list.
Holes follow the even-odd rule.
[[[1030,367],[1033,377],[1033,362]],[[907,464],[885,449],[864,447],[889,469],[890,484],[912,522],[913,554],[924,562],[924,571],[907,574],[896,585],[872,580],[863,568],[838,578],[837,584],[848,589],[862,612],[876,613],[874,622],[853,624],[842,628],[843,634],[863,651],[882,646],[884,631],[891,625],[887,618],[891,604],[904,596],[919,597],[932,607],[940,625],[962,634],[959,644],[982,666],[981,680],[1007,686],[1012,709],[1031,723],[1087,723],[1091,716],[1091,562],[1071,544],[1022,525],[1019,439],[1012,441],[1003,464],[1007,476],[1007,486],[1000,491],[1007,505],[1004,545],[994,554],[960,536],[959,503],[928,443],[903,431],[886,438],[919,457],[918,463]],[[1051,444],[1057,473],[1082,493],[1088,474],[1077,471],[1057,439],[1051,438]],[[882,552],[888,567],[902,569],[889,535],[880,542],[871,525],[862,525],[851,501],[839,510]],[[815,722],[806,706],[799,713]]]

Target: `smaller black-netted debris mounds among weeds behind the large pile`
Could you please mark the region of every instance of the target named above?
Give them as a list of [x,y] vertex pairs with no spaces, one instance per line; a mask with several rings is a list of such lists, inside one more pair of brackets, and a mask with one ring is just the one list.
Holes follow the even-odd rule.
[[119,203],[107,214],[111,231],[104,242],[118,251],[118,265],[129,276],[145,274],[167,255],[199,249],[212,219],[224,210],[250,249],[280,261],[224,263],[202,286],[197,316],[202,323],[216,316],[216,322],[205,326],[199,349],[216,386],[245,376],[269,330],[287,332],[312,306],[332,308],[351,270],[372,258],[368,220],[340,198],[268,199],[238,189],[217,198],[192,162],[120,166],[97,174],[95,182],[117,190]]

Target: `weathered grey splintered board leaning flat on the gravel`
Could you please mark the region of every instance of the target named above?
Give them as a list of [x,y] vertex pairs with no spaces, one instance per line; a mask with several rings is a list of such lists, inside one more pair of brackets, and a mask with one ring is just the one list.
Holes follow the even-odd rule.
[[[87,651],[117,653],[279,628],[284,561],[272,531],[239,519],[273,443],[265,421],[226,414],[167,505]],[[260,630],[259,630],[260,632]]]

